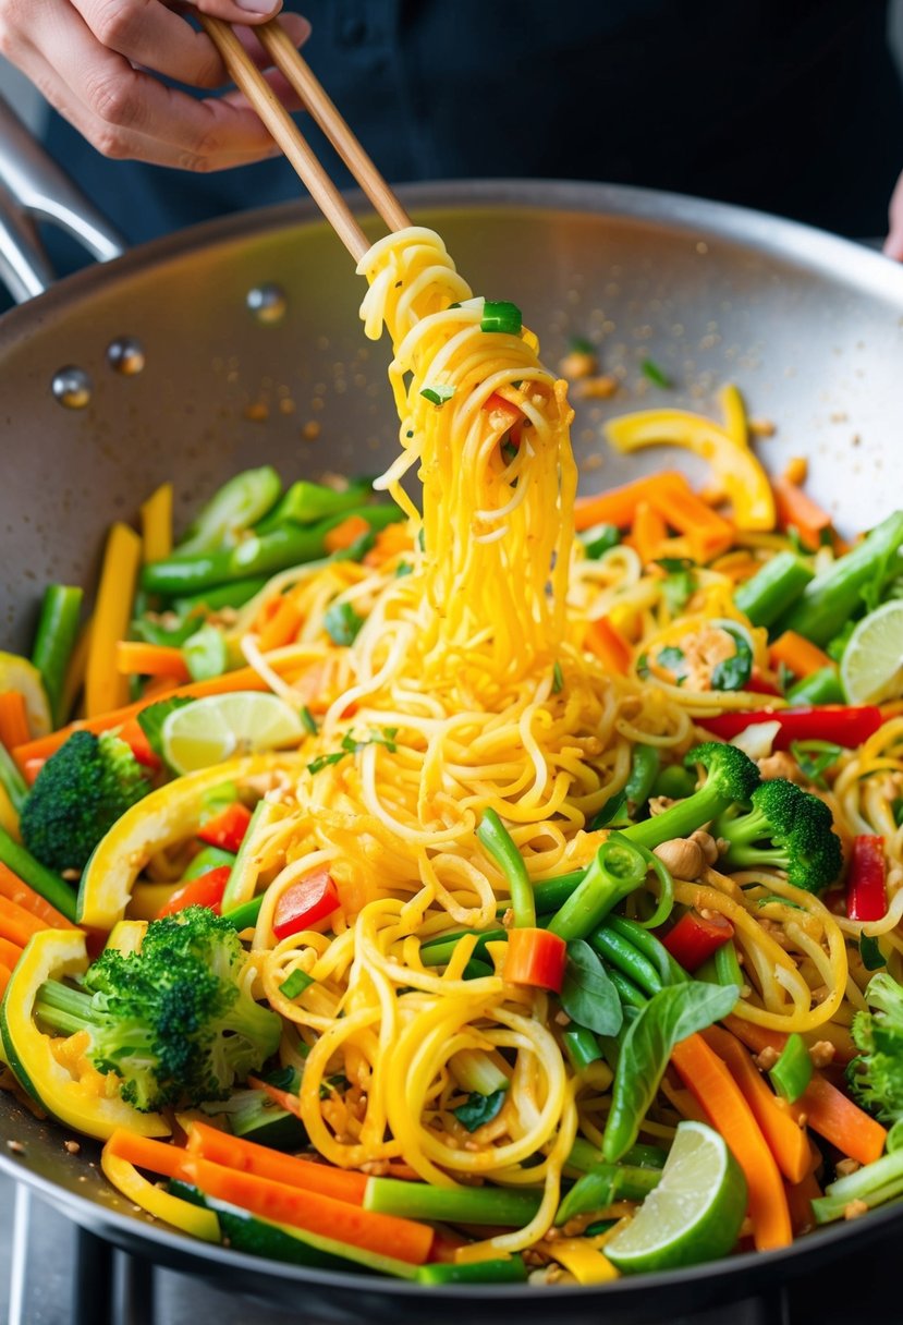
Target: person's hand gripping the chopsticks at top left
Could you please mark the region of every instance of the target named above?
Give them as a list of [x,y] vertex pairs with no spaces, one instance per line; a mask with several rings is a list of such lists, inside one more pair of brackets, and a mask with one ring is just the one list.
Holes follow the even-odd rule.
[[[240,93],[197,99],[156,77],[209,90],[229,82],[211,38],[185,21],[192,8],[245,25],[238,36],[267,66],[252,29],[282,0],[0,0],[0,54],[105,156],[213,171],[278,155]],[[279,23],[298,45],[307,40],[301,15]],[[273,70],[267,78],[297,109],[285,78]]]

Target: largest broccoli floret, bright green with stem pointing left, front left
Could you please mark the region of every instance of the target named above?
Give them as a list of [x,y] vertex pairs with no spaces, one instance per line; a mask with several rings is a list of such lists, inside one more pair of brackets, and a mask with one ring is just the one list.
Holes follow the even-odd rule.
[[138,953],[106,949],[81,988],[41,986],[46,1031],[86,1030],[89,1060],[120,1079],[143,1112],[224,1100],[279,1045],[282,1022],[241,983],[245,950],[229,921],[188,906],[152,921]]

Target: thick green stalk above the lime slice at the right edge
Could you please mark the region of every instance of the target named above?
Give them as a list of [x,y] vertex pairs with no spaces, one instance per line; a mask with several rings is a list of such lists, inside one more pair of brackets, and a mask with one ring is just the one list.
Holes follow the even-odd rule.
[[884,584],[894,575],[902,546],[903,511],[898,510],[858,547],[817,575],[776,629],[796,631],[813,644],[828,644],[862,606],[862,590],[874,580]]

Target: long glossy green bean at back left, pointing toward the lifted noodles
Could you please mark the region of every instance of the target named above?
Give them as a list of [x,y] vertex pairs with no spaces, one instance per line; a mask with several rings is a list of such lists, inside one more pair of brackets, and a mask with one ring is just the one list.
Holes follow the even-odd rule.
[[397,506],[361,506],[347,514],[331,515],[316,525],[279,525],[269,534],[252,534],[236,547],[196,556],[169,556],[151,562],[142,571],[142,587],[150,594],[200,594],[204,590],[248,579],[274,575],[326,554],[326,535],[350,515],[360,515],[372,529],[385,529],[404,513]]

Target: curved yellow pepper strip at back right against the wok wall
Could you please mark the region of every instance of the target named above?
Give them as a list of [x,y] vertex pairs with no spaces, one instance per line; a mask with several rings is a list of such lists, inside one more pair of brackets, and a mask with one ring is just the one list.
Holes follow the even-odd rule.
[[747,447],[711,419],[689,409],[641,409],[605,425],[605,435],[616,450],[633,453],[643,447],[683,447],[706,460],[715,470],[734,506],[739,529],[775,527],[775,496],[768,474]]

